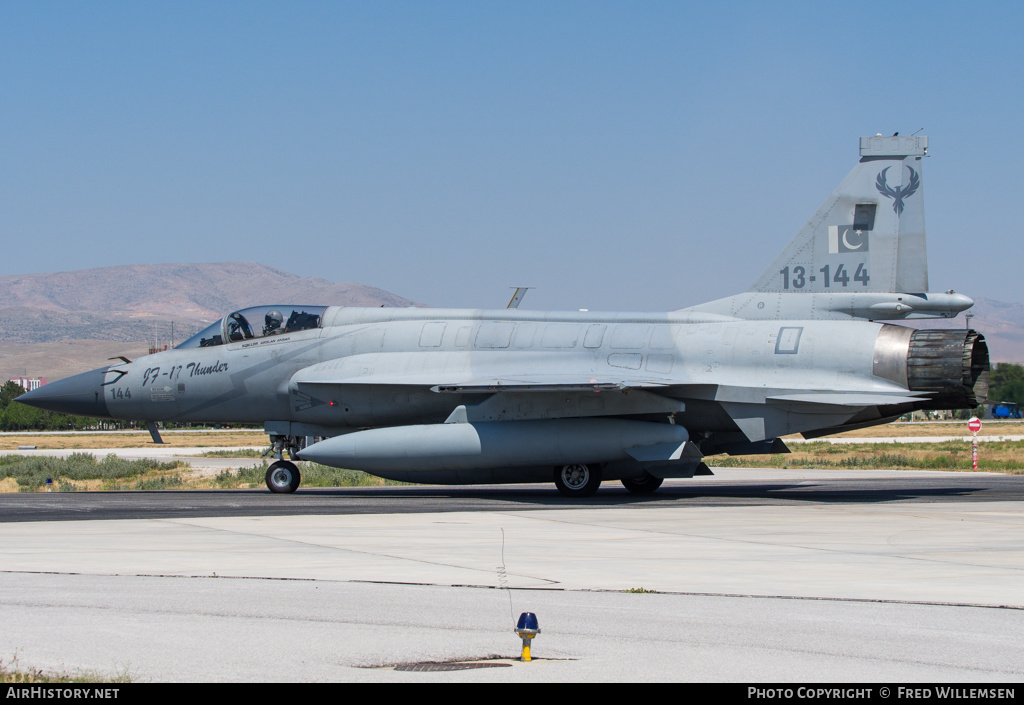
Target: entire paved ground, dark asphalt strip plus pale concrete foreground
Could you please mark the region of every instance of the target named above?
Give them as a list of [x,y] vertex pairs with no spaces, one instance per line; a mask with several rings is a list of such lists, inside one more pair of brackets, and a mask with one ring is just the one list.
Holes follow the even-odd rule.
[[[158,681],[1024,677],[1024,478],[717,473],[585,502],[3,495],[0,658]],[[542,628],[529,664],[523,611]],[[453,661],[490,667],[394,668]]]

